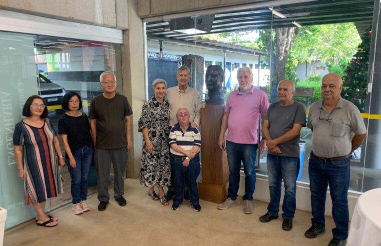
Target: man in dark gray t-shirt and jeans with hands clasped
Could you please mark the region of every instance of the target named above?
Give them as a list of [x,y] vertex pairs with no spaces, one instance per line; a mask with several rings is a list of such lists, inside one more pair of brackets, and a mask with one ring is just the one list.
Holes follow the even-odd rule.
[[290,80],[278,83],[279,101],[267,109],[262,126],[263,137],[267,140],[267,171],[270,187],[270,203],[267,213],[260,216],[262,222],[278,218],[279,202],[284,181],[282,205],[282,228],[290,230],[296,210],[296,178],[300,161],[300,129],[305,126],[305,108],[292,99],[295,84]]

